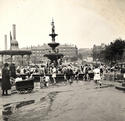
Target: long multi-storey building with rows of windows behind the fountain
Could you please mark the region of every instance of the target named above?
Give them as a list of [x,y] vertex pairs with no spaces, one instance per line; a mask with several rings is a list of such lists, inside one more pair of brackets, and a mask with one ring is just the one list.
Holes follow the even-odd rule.
[[[43,44],[41,46],[31,46],[22,49],[28,49],[32,51],[31,62],[34,64],[42,62],[46,63],[48,59],[44,57],[44,55],[49,53],[51,50],[47,44]],[[78,49],[74,45],[60,45],[57,47],[57,50],[64,55],[63,61],[73,61],[78,57]]]

